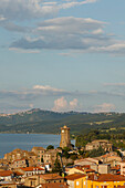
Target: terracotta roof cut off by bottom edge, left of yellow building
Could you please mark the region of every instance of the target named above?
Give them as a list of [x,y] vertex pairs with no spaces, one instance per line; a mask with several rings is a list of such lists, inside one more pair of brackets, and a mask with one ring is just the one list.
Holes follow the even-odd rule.
[[43,184],[41,186],[42,188],[69,188],[69,185],[65,182],[50,182],[50,184]]

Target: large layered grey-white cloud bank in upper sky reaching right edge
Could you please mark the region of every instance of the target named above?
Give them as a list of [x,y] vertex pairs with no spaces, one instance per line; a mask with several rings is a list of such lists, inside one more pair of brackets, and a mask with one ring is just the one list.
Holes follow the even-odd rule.
[[10,49],[70,50],[71,53],[125,54],[125,41],[105,33],[107,23],[91,18],[48,19],[31,30],[32,35],[11,43]]

